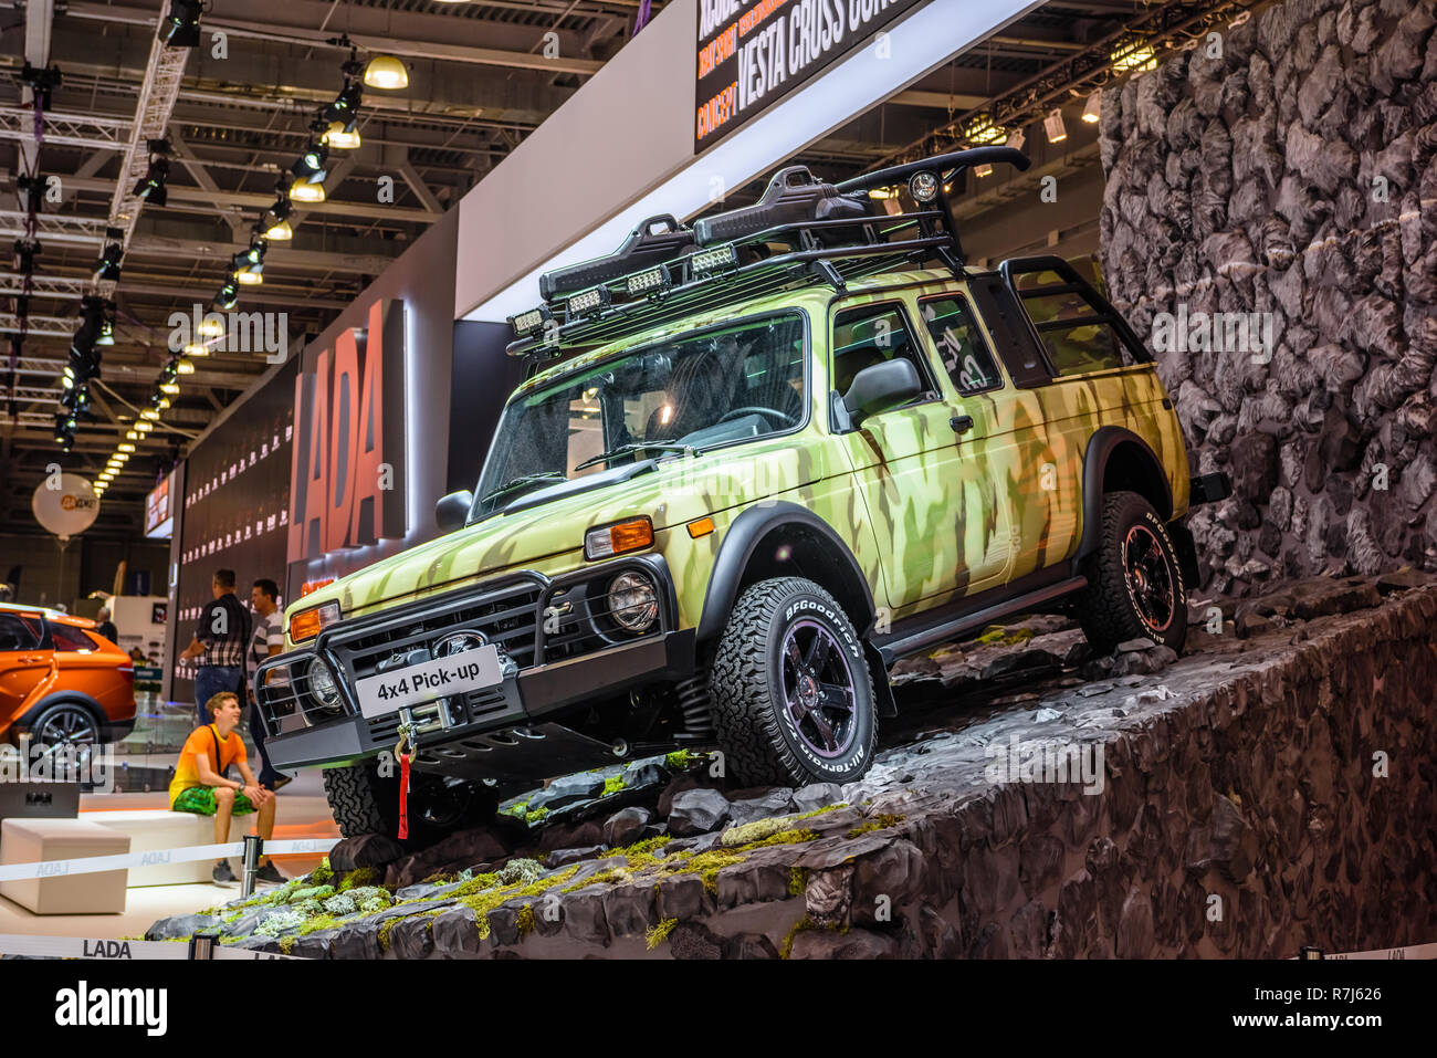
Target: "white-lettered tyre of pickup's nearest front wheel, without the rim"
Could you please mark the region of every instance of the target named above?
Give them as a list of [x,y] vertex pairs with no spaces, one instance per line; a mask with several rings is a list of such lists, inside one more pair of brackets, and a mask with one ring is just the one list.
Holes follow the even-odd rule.
[[[800,621],[828,630],[852,677],[852,730],[832,760],[805,742],[785,703],[782,651]],[[878,712],[864,643],[844,608],[812,581],[775,578],[743,592],[718,640],[710,694],[718,748],[743,785],[852,782],[872,765]]]

